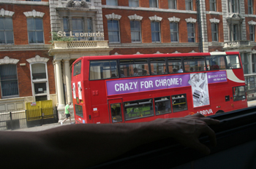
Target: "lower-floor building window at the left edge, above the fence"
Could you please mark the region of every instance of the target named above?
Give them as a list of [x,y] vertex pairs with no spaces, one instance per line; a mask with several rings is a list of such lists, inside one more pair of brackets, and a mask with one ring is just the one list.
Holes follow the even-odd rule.
[[17,97],[19,95],[17,66],[15,64],[0,65],[0,79],[2,98]]

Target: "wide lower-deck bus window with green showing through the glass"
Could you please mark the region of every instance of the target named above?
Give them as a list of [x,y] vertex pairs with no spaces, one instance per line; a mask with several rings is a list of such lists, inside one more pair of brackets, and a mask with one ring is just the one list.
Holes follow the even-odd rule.
[[151,99],[124,103],[125,120],[154,116]]

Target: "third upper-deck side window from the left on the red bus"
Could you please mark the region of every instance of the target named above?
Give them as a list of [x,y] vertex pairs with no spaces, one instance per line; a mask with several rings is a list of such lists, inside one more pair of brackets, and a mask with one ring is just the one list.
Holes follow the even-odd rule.
[[154,58],[150,60],[151,75],[167,74],[165,58]]

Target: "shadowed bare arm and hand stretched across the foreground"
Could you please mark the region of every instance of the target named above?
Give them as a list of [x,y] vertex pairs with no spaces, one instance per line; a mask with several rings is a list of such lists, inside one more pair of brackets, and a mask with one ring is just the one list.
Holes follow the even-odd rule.
[[173,138],[184,146],[210,154],[211,150],[198,138],[206,134],[216,146],[214,130],[208,125],[217,124],[217,119],[193,114],[151,122],[63,125],[39,132],[0,131],[1,165],[86,168],[164,138]]

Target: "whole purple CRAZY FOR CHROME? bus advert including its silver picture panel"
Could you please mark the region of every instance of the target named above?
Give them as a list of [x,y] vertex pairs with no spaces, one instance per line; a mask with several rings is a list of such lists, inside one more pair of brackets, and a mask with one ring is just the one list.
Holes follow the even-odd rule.
[[110,80],[106,85],[108,95],[191,86],[194,106],[197,107],[210,103],[208,84],[219,82],[227,82],[226,71]]

